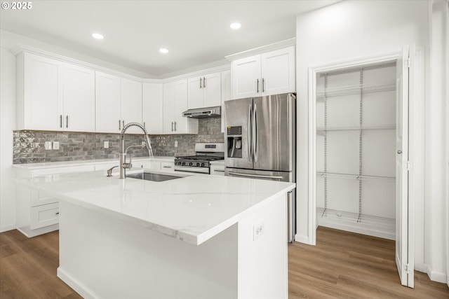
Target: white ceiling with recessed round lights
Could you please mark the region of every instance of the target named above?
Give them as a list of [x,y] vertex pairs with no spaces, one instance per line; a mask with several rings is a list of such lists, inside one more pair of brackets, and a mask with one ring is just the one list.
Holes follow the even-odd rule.
[[35,0],[27,11],[1,9],[0,28],[164,78],[293,38],[296,15],[335,2]]

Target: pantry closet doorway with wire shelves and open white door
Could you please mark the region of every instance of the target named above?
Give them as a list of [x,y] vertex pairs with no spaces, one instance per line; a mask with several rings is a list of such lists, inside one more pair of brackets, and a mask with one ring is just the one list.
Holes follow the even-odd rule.
[[408,102],[414,46],[309,69],[309,228],[396,240],[401,284],[413,287]]

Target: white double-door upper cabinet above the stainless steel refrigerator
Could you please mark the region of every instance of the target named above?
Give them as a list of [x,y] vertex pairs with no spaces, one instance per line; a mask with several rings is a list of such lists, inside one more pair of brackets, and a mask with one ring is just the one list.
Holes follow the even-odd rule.
[[232,62],[232,98],[295,92],[295,47]]

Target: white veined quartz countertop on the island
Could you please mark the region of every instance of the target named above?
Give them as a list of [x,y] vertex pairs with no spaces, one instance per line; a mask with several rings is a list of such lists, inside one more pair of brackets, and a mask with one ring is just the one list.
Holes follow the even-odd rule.
[[295,183],[230,176],[155,182],[107,177],[104,172],[52,174],[16,182],[196,245],[295,188]]

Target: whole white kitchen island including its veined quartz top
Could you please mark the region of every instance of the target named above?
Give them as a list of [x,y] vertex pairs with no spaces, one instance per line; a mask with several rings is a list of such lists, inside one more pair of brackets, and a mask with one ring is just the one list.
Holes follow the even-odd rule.
[[84,298],[287,298],[294,183],[54,174],[18,183],[60,199],[58,277]]

